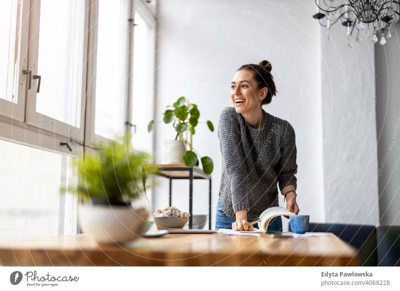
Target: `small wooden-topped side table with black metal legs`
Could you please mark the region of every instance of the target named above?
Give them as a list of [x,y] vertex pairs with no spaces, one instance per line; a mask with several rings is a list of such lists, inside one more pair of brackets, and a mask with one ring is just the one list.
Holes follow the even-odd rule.
[[208,229],[211,229],[211,175],[205,174],[198,166],[187,167],[178,163],[145,166],[157,168],[159,176],[169,179],[169,206],[172,206],[172,179],[189,179],[189,228],[192,228],[193,223],[193,179],[208,179]]

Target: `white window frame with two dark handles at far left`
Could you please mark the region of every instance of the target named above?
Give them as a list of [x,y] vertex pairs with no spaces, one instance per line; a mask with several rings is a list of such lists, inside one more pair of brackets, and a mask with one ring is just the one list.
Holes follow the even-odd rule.
[[[85,60],[88,58],[87,46],[90,35],[89,13],[91,11],[89,5],[91,0],[84,1],[85,33],[83,35],[83,59]],[[37,60],[38,33],[35,37],[32,37],[29,35],[29,29],[37,27],[35,25],[40,19],[39,4],[40,0],[21,0],[22,10],[20,17],[22,17],[22,21],[20,28],[18,99],[17,103],[1,100],[0,138],[44,150],[76,156],[79,152],[83,151],[82,144],[85,143],[83,137],[85,131],[86,71],[88,64],[84,61],[82,67],[80,128],[35,111],[37,82],[33,79],[33,75],[37,74],[35,70],[37,61],[34,62],[34,60]],[[28,74],[23,74],[24,70],[31,71],[30,90],[28,89]],[[56,126],[54,126],[55,124]]]

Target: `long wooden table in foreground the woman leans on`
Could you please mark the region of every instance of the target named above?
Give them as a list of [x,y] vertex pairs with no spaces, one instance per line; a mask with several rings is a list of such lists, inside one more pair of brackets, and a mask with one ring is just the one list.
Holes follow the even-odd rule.
[[86,234],[0,241],[4,266],[342,266],[356,265],[356,250],[328,236],[277,238],[166,234],[123,245],[96,245]]

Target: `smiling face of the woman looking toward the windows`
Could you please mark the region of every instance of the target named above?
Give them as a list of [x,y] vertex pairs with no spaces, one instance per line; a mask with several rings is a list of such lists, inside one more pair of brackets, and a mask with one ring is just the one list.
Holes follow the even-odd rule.
[[245,69],[236,71],[230,86],[230,99],[237,113],[259,110],[267,88],[257,88],[252,71]]

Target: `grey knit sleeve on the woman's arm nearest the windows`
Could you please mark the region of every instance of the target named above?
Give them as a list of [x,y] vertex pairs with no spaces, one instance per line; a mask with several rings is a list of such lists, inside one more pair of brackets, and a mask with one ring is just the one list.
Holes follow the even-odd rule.
[[245,191],[246,168],[241,147],[240,124],[234,108],[226,107],[219,115],[218,139],[222,162],[230,181],[233,211],[248,209]]

